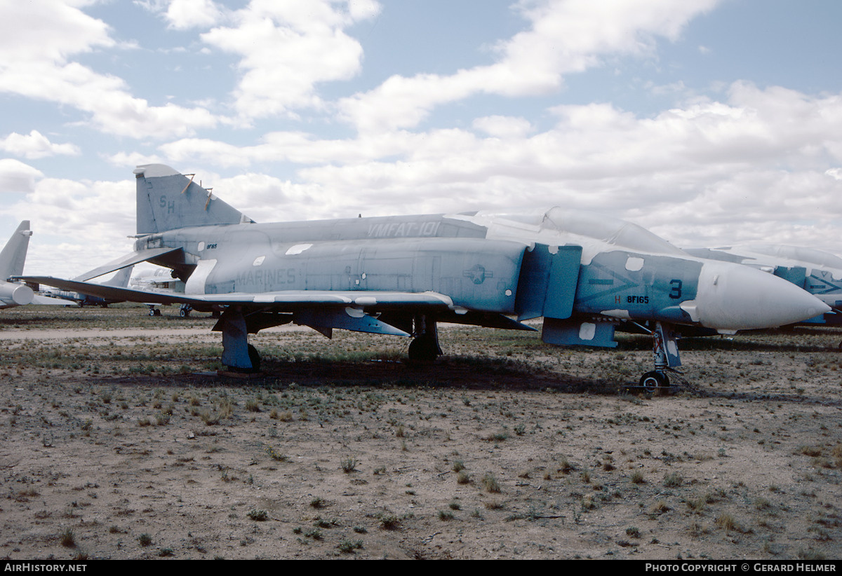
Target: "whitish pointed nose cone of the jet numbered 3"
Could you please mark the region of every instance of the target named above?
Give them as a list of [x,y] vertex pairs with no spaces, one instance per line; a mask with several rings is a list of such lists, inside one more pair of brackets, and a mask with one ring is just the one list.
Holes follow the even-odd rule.
[[701,325],[717,330],[774,328],[830,311],[793,283],[729,262],[701,267],[695,304]]

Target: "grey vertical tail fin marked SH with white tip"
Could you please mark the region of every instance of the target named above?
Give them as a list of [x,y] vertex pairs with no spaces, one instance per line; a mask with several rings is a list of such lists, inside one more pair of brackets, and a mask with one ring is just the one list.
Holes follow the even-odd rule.
[[137,177],[137,234],[220,224],[253,222],[193,178],[163,164],[135,168]]

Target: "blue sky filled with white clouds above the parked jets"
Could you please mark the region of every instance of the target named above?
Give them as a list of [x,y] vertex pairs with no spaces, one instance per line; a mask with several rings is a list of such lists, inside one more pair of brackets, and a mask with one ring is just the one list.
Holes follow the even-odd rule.
[[131,251],[137,164],[258,221],[570,206],[842,254],[835,0],[0,0],[0,241]]

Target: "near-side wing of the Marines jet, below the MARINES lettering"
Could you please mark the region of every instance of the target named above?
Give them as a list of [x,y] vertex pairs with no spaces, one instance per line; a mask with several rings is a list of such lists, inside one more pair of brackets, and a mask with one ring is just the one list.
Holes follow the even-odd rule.
[[295,309],[314,306],[376,306],[382,308],[398,308],[417,306],[425,308],[449,309],[453,300],[448,296],[434,292],[371,292],[362,290],[285,290],[264,293],[224,293],[224,294],[178,294],[163,293],[131,288],[105,286],[104,284],[77,282],[51,276],[23,276],[19,277],[27,283],[46,284],[63,290],[86,293],[104,299],[126,300],[142,302],[144,304],[212,304],[244,305],[253,308],[269,308],[278,311],[292,311]]

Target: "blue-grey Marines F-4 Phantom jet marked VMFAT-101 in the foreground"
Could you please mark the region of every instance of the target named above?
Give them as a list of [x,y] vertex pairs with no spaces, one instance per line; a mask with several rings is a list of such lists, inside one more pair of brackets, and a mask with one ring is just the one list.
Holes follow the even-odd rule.
[[148,261],[184,294],[27,277],[104,298],[221,311],[222,362],[258,370],[248,334],[293,322],[412,336],[414,360],[442,351],[437,324],[535,330],[557,345],[616,346],[625,322],[652,326],[647,388],[680,365],[674,325],[765,328],[829,308],[791,283],[688,255],[631,223],[552,208],[256,224],[169,166],[135,170],[135,251],[86,274]]

